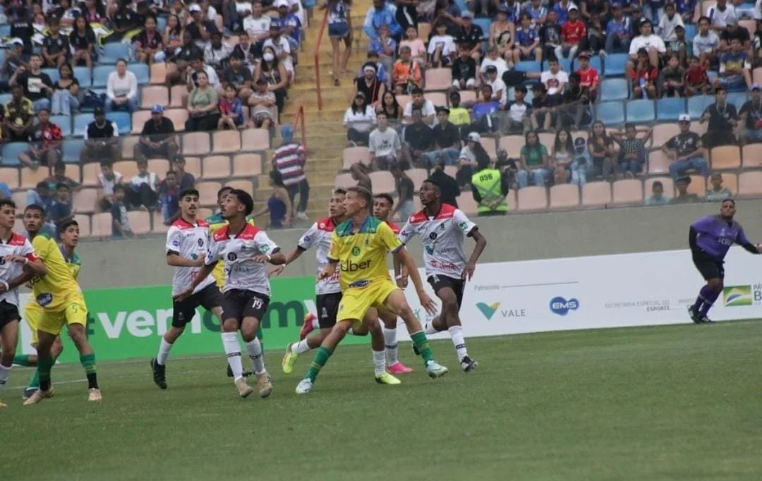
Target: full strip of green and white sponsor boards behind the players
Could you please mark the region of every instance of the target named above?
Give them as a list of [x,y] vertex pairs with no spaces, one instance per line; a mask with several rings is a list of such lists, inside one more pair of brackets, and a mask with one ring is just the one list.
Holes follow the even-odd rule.
[[[728,252],[725,289],[709,312],[714,320],[762,317],[762,255],[740,248]],[[425,279],[423,271],[421,277]],[[298,339],[306,313],[315,313],[315,277],[274,278],[272,301],[262,320],[267,349]],[[425,281],[424,281],[425,282]],[[466,284],[460,318],[467,336],[519,334],[568,329],[687,323],[687,306],[704,284],[690,252],[646,252],[477,266]],[[428,283],[429,295],[440,305]],[[415,316],[425,322],[415,290],[406,292]],[[88,334],[98,359],[149,358],[171,325],[171,287],[85,290]],[[25,300],[22,296],[22,300]],[[399,340],[409,340],[400,321]],[[66,338],[66,335],[64,336]],[[432,338],[449,338],[440,332]],[[24,352],[30,332],[21,329]],[[348,335],[344,343],[369,338]],[[65,340],[62,361],[77,361]],[[222,353],[219,322],[197,309],[172,354]]]

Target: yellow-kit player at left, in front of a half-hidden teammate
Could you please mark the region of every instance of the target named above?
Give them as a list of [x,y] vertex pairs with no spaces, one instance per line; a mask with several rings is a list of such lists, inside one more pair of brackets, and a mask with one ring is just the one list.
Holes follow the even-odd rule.
[[[69,337],[79,351],[79,362],[85,368],[88,401],[101,402],[101,390],[95,372],[95,354],[85,330],[88,322],[85,297],[82,296],[82,290],[59,245],[50,236],[40,233],[44,218],[43,207],[33,204],[24,210],[24,228],[29,232],[32,246],[48,270],[44,277],[35,276],[31,280],[32,297],[43,308],[43,316],[37,322],[37,372],[40,376],[40,389],[24,402],[24,406],[37,404],[46,397],[53,396],[53,387],[50,385],[50,369],[53,367],[51,347],[63,325],[67,325]],[[71,225],[67,229],[69,227]]]

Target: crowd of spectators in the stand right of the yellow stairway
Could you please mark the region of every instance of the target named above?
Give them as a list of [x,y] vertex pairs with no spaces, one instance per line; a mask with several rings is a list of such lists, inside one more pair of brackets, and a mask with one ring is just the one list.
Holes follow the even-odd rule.
[[[367,62],[354,80],[344,127],[347,146],[368,146],[370,169],[454,165],[459,186],[469,188],[486,156],[507,188],[582,185],[642,178],[649,156],[663,151],[677,186],[673,201],[683,202],[698,200],[681,193],[689,174],[710,175],[709,149],[762,140],[762,87],[751,72],[762,53],[760,2],[719,0],[706,8],[690,0],[473,0],[466,10],[448,0],[424,4],[375,0],[363,24]],[[490,18],[488,28],[475,15]],[[752,18],[756,27],[749,27]],[[626,56],[632,101],[715,99],[698,122],[684,110],[675,114],[680,132],[664,145],[653,143],[653,122],[604,125],[595,118],[602,75],[593,64],[613,54]],[[433,104],[431,91],[445,91],[447,101],[436,97],[442,100]],[[737,107],[728,92],[748,99]],[[543,133],[553,140],[545,135],[543,143]],[[479,146],[485,136],[506,135],[523,136],[520,155],[497,149],[490,156]],[[721,177],[710,183],[707,199],[732,194]],[[655,196],[647,203],[659,204]]]

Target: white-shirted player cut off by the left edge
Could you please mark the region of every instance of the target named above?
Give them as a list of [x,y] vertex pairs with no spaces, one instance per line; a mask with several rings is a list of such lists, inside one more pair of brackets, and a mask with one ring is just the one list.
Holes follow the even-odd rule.
[[[0,199],[0,392],[8,382],[18,345],[18,287],[47,268],[34,253],[31,242],[13,232],[16,204]],[[0,408],[5,404],[0,400]]]

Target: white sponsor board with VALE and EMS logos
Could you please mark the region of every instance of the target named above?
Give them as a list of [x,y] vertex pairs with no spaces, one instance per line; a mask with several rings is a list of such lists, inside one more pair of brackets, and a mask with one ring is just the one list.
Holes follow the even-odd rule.
[[[709,317],[762,318],[762,255],[734,247],[725,272]],[[703,284],[687,250],[482,264],[466,284],[460,319],[469,336],[685,323]],[[406,293],[424,319],[415,290]]]

